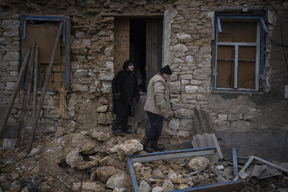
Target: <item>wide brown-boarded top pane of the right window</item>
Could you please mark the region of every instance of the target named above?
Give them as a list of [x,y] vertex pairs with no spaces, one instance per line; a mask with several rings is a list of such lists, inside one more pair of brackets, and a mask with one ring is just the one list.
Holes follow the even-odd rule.
[[256,42],[257,22],[221,21],[221,28],[218,42]]

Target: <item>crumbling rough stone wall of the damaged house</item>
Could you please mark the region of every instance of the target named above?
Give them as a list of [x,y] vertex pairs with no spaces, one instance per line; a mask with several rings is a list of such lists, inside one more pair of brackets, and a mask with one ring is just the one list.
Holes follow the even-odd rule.
[[[5,6],[0,6],[0,114],[5,112],[19,71],[21,13],[71,16],[71,92],[67,95],[67,122],[73,131],[109,129],[112,123],[114,17],[111,15],[164,15],[168,10],[177,14],[165,28],[170,30],[169,58],[165,61],[170,64],[173,74],[169,81],[171,109],[160,141],[170,145],[190,143],[195,107],[209,113],[215,131],[288,132],[288,102],[283,99],[284,83],[288,80],[287,73],[282,73],[286,70],[282,47],[271,44],[269,39],[266,38],[265,44],[264,74],[272,86],[270,92],[215,92],[211,87],[213,26],[208,14],[211,15],[212,11],[200,11],[200,6],[264,5],[267,3],[264,0],[2,2]],[[287,4],[283,6],[287,7]],[[287,19],[284,19],[287,12],[279,13],[287,28]],[[266,14],[270,37],[279,42],[275,13],[268,11]],[[287,35],[284,35],[284,44],[288,44],[287,41]],[[55,92],[48,92],[45,96],[37,130],[40,136],[55,134],[62,129],[57,114],[58,97]],[[18,123],[21,103],[22,91],[14,104],[9,124]],[[30,110],[28,131],[31,129],[31,114]],[[140,132],[143,134],[144,130],[140,129]]]

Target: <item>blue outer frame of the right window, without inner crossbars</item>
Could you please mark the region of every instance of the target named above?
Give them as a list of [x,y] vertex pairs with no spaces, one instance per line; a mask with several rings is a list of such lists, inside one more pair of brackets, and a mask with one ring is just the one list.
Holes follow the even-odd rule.
[[[265,32],[268,33],[268,29],[265,25],[265,22],[264,22],[264,18],[265,16],[253,16],[253,15],[224,15],[224,14],[215,14],[215,22],[214,22],[214,45],[213,45],[213,58],[212,58],[212,89],[214,91],[230,91],[230,92],[261,92],[262,89],[259,88],[258,91],[251,91],[251,90],[223,90],[223,89],[216,89],[215,88],[215,78],[216,76],[214,75],[214,72],[213,72],[213,67],[215,66],[215,62],[216,62],[216,42],[217,42],[217,33],[218,33],[218,30],[221,31],[221,24],[220,24],[220,18],[235,18],[235,19],[259,19],[260,22],[261,22],[261,39],[260,39],[260,74],[263,74],[264,73],[264,37],[265,37]],[[259,74],[259,75],[260,75]]]

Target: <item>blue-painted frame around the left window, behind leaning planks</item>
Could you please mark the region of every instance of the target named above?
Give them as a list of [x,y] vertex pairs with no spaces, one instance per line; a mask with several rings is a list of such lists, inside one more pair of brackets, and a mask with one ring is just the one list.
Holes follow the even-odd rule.
[[[65,89],[66,91],[69,90],[69,70],[68,70],[68,65],[69,65],[69,35],[68,31],[70,29],[68,28],[69,25],[69,16],[39,16],[39,15],[21,15],[21,25],[23,25],[23,39],[26,37],[26,21],[59,21],[63,22],[63,42],[65,43]],[[23,56],[21,52],[21,65],[23,63]],[[21,87],[24,88],[24,78],[22,79],[21,82]],[[41,91],[42,88],[37,88],[37,91]],[[55,89],[47,89],[46,91],[49,92],[59,92],[58,90]]]

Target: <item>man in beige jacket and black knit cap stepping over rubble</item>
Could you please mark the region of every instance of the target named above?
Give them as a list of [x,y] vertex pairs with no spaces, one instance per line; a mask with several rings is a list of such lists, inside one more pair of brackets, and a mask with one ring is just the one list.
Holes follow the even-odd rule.
[[167,79],[170,78],[171,74],[169,65],[166,65],[148,83],[144,110],[147,112],[151,127],[141,141],[143,150],[147,153],[164,151],[165,149],[165,147],[159,147],[157,144],[163,129],[164,117],[168,117],[170,97]]

